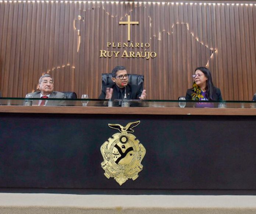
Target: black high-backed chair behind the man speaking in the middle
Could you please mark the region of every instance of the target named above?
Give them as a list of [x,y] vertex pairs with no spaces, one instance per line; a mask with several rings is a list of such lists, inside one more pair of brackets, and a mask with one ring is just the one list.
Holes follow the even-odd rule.
[[[102,74],[102,88],[107,85],[114,84],[111,80],[111,73],[103,73]],[[144,75],[130,74],[128,83],[131,85],[136,85],[139,87],[139,92],[142,93],[143,85],[144,85]]]

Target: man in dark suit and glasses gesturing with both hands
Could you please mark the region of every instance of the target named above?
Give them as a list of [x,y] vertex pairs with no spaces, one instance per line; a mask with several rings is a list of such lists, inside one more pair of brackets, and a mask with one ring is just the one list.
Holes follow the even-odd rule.
[[99,99],[146,99],[146,90],[139,93],[138,86],[128,84],[128,77],[124,66],[116,66],[111,78],[114,83],[102,88]]

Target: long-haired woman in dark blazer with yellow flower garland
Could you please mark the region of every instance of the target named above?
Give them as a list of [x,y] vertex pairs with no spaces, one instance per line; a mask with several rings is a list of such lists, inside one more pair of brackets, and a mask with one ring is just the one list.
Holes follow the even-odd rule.
[[213,85],[209,69],[205,67],[196,68],[192,77],[194,78],[193,88],[187,90],[186,100],[222,100],[220,89]]

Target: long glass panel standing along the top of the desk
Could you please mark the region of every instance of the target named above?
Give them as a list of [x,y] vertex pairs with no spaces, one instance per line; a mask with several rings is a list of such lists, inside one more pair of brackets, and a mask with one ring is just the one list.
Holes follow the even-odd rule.
[[179,101],[179,100],[126,100],[117,99],[55,99],[55,98],[0,98],[4,106],[105,106],[151,108],[256,108],[254,101]]

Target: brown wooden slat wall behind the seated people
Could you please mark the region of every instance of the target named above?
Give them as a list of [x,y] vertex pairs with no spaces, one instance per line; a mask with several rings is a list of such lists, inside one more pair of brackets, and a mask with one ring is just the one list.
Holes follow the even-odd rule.
[[[149,48],[106,47],[127,42],[127,26],[118,24],[127,15],[139,21],[131,26],[131,41]],[[146,50],[157,57],[100,58],[100,50]],[[97,98],[101,74],[116,65],[145,75],[149,99],[184,96],[194,69],[207,65],[224,99],[250,100],[256,92],[256,4],[0,0],[4,97],[24,97],[49,73],[55,90]]]

